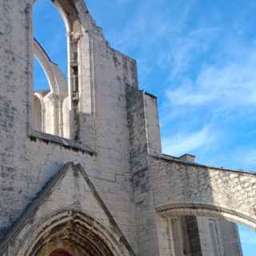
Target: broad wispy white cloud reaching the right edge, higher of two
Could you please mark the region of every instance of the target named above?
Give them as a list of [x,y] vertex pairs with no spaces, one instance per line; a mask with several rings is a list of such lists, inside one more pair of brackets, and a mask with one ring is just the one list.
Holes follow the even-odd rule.
[[182,78],[176,88],[166,91],[169,103],[196,107],[212,104],[214,108],[224,109],[255,105],[256,46],[248,49],[242,58],[236,53],[232,58],[204,66],[194,81]]

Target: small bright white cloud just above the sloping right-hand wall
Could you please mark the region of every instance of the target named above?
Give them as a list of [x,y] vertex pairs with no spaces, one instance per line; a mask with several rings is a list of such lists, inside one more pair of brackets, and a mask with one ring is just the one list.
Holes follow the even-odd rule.
[[206,149],[212,145],[218,134],[210,126],[193,133],[180,133],[167,136],[163,139],[163,151],[166,154],[180,156],[194,150]]

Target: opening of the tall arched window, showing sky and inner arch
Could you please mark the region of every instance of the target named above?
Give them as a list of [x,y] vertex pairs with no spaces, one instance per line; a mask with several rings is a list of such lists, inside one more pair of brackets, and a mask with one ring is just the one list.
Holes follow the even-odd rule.
[[[70,125],[67,123],[69,117],[63,113],[63,107],[66,109],[63,103],[65,105],[68,102],[66,100],[68,96],[66,26],[51,1],[34,3],[33,26],[36,65],[34,65],[32,128],[70,138],[69,129],[65,129]],[[43,82],[40,68],[46,78]]]

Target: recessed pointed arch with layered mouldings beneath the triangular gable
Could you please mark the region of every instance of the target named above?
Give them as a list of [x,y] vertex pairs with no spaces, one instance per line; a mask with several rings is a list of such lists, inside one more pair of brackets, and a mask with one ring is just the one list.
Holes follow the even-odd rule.
[[64,210],[46,218],[31,230],[17,256],[126,256],[126,248],[95,218],[77,210]]

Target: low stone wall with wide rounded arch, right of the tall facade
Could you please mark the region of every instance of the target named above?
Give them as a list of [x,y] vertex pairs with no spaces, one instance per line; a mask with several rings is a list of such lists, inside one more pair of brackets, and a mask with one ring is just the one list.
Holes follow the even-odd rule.
[[[173,227],[168,219],[196,215],[208,217],[198,218],[202,255],[215,256],[210,218],[216,220],[221,236],[220,254],[233,251],[234,255],[242,255],[238,231],[228,221],[255,227],[255,218],[251,218],[255,204],[255,174],[210,168],[164,155],[151,156],[147,163],[148,166],[132,176],[138,207],[138,234],[139,239],[143,238],[139,240],[139,251],[154,255],[158,247],[159,255],[175,255]],[[216,218],[225,220],[225,226],[220,227]]]

